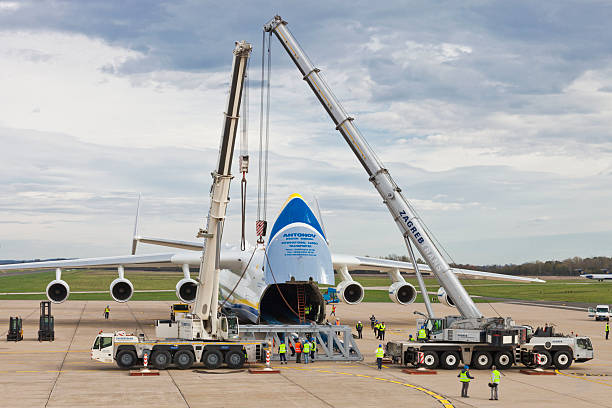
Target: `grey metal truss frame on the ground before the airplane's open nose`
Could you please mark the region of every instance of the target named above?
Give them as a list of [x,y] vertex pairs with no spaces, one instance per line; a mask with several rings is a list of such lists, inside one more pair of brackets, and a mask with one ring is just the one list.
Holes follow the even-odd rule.
[[287,340],[287,360],[291,357],[290,348],[295,342],[302,342],[306,338],[317,340],[317,354],[315,360],[325,361],[362,361],[363,356],[353,339],[350,326],[330,325],[300,325],[300,324],[274,324],[255,325],[241,324],[240,338],[242,340],[266,340],[273,344],[272,360],[278,361],[278,345]]

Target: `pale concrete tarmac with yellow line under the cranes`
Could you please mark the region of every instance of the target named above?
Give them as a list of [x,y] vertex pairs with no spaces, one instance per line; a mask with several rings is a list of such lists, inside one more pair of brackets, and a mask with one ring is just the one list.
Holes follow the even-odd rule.
[[[109,320],[103,310],[110,304]],[[387,326],[386,340],[406,339],[415,332],[413,311],[422,304],[401,306],[363,303],[336,307],[341,324],[364,324],[357,340],[365,359],[360,363],[273,363],[280,374],[249,374],[246,369],[169,369],[156,377],[130,377],[115,364],[90,359],[97,333],[144,331],[153,336],[153,320],[166,318],[171,302],[67,301],[52,306],[55,341],[37,341],[39,301],[0,301],[0,407],[611,407],[612,339],[604,339],[604,323],[586,312],[540,305],[480,303],[487,316],[512,316],[532,326],[554,323],[557,331],[588,335],[595,359],[576,363],[550,376],[527,376],[518,368],[503,372],[499,401],[489,401],[490,371],[473,371],[469,399],[460,397],[458,371],[409,375],[403,367],[385,365],[379,371],[374,350],[379,344],[369,326],[374,314]],[[330,309],[328,308],[328,313]],[[453,309],[434,304],[442,316]],[[7,342],[9,316],[24,319],[24,340]],[[331,320],[331,319],[330,319]]]

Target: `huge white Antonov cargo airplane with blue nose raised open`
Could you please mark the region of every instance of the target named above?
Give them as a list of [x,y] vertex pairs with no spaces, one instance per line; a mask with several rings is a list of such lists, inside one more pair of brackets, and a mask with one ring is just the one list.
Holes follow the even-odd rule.
[[[135,255],[138,242],[178,250]],[[200,265],[202,249],[201,242],[139,237],[135,228],[132,255],[0,265],[0,270],[55,269],[56,279],[47,285],[46,294],[52,302],[61,303],[70,295],[68,283],[61,278],[62,268],[116,267],[118,277],[110,284],[110,295],[117,302],[127,302],[134,293],[134,287],[126,278],[124,267],[176,265],[184,274],[176,284],[176,296],[190,303],[196,295],[196,281],[190,276],[190,267]],[[391,280],[389,297],[395,303],[408,305],[417,296],[415,287],[401,275],[401,272],[413,272],[412,263],[332,254],[321,222],[299,194],[291,195],[283,205],[272,226],[267,245],[245,251],[223,248],[220,267],[220,293],[223,299],[220,303],[242,321],[252,323],[294,322],[298,320],[299,305],[303,305],[307,321],[322,323],[325,319],[325,301],[318,284],[334,285],[334,270],[341,278],[336,286],[338,297],[350,305],[360,303],[364,297],[363,286],[353,280],[349,273],[352,270],[386,272]],[[419,265],[419,269],[430,271],[427,265]],[[452,270],[462,276],[543,282],[490,272]],[[441,303],[454,306],[443,288],[438,290],[437,295]]]

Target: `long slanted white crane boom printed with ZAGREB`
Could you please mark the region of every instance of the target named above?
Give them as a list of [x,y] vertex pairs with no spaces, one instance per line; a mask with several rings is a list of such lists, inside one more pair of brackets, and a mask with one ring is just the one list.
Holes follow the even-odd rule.
[[366,170],[369,180],[374,184],[381,195],[383,202],[389,209],[391,216],[404,237],[410,239],[418,248],[432,272],[455,302],[459,313],[465,318],[480,318],[482,313],[478,310],[465,288],[461,285],[450,266],[427,234],[422,221],[412,206],[408,203],[401,189],[395,184],[387,169],[383,166],[372,148],[367,144],[351,118],[340,102],[335,98],[329,86],[319,75],[317,69],[304,50],[295,40],[287,23],[275,16],[264,26],[266,32],[274,33],[279,39],[295,65],[323,105],[344,140]]

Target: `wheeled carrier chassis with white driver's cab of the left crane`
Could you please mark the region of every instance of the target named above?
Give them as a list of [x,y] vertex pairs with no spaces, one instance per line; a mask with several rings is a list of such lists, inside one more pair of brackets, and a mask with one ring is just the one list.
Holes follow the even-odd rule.
[[149,363],[158,370],[171,365],[187,370],[198,363],[208,369],[219,368],[224,363],[237,369],[245,362],[264,361],[266,347],[267,343],[261,341],[146,340],[144,336],[124,332],[100,332],[91,348],[91,358],[103,363],[114,361],[123,369]]

